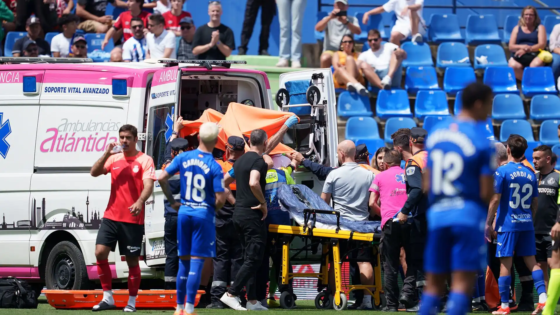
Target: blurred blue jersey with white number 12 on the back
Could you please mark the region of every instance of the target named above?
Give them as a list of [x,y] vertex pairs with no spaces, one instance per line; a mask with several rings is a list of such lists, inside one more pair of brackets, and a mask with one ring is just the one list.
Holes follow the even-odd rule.
[[428,224],[432,228],[478,227],[486,206],[480,198],[480,176],[496,168],[494,147],[474,121],[441,122],[426,141],[430,169]]

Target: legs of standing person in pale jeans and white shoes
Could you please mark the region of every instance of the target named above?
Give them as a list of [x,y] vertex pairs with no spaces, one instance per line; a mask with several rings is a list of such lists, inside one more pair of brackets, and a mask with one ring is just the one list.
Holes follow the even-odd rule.
[[291,58],[292,68],[301,68],[301,27],[307,0],[276,0],[280,24],[280,60],[277,67],[287,67]]

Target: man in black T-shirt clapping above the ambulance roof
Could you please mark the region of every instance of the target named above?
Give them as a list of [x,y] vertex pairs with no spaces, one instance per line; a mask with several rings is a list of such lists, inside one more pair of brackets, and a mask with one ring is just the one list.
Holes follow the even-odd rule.
[[202,60],[226,60],[235,49],[234,32],[221,23],[222,4],[212,1],[208,4],[210,21],[194,33],[193,54]]

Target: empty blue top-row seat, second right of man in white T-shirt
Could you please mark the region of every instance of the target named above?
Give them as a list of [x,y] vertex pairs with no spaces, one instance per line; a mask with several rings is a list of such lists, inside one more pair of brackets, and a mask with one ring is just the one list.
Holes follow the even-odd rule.
[[498,34],[498,24],[494,15],[470,14],[466,18],[465,44],[499,44],[501,42],[502,39]]

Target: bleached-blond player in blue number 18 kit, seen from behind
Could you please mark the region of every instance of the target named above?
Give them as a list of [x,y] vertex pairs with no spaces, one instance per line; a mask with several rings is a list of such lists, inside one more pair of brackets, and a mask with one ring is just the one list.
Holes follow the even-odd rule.
[[198,149],[175,156],[158,178],[167,200],[175,200],[167,189],[167,179],[179,172],[181,181],[181,202],[175,201],[171,205],[179,210],[177,247],[180,263],[175,315],[194,313],[204,260],[216,253],[215,212],[226,201],[222,168],[212,156],[218,126],[215,123],[202,124],[198,138]]

